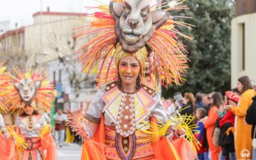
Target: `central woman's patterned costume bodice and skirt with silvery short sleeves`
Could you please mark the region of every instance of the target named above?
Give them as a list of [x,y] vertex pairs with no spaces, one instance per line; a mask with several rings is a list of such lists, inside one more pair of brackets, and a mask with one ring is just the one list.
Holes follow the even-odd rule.
[[[147,134],[140,130],[147,130],[154,116],[161,122],[167,122],[163,104],[159,94],[141,86],[134,93],[122,92],[116,83],[102,87],[93,100],[86,119],[100,123],[104,116],[106,129],[105,154],[106,159],[156,159],[154,150]],[[152,142],[152,141],[151,141]]]

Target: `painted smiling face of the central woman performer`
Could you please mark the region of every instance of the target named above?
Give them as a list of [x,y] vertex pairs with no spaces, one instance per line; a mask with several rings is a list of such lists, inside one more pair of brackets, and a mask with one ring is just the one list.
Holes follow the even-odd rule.
[[134,84],[140,74],[140,63],[134,56],[125,56],[120,60],[118,65],[119,74],[122,84]]

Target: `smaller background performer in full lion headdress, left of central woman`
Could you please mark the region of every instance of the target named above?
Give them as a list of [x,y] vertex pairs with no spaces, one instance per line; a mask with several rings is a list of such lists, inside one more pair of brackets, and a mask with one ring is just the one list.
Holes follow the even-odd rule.
[[[20,72],[14,68],[17,76],[12,76],[10,85],[10,111],[18,110],[19,116],[15,121],[16,132],[22,135],[26,145],[15,150],[15,158],[56,159],[56,145],[51,135],[51,127],[44,119],[43,111],[51,108],[54,90],[45,72],[26,70]],[[44,152],[46,150],[46,154]]]

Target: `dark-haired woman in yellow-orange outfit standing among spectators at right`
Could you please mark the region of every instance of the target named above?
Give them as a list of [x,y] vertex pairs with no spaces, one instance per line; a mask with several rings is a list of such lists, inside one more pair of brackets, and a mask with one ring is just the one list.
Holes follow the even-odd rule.
[[244,157],[241,156],[241,152],[247,150],[250,152],[250,156],[246,157],[246,159],[252,159],[252,137],[248,136],[248,134],[252,132],[252,125],[246,124],[244,120],[246,111],[252,104],[252,97],[255,96],[255,91],[252,89],[249,77],[243,76],[238,79],[237,90],[242,94],[239,105],[236,106],[235,102],[229,100],[230,106],[227,106],[237,117],[235,126],[236,157],[237,159],[244,159]]

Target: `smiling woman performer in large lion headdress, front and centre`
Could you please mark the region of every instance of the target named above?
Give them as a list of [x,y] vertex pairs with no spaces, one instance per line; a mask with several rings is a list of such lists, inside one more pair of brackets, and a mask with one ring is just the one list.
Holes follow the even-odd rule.
[[[184,47],[176,35],[182,34],[173,28],[186,24],[170,19],[170,8],[157,7],[146,0],[111,1],[109,10],[100,6],[102,12],[90,15],[95,20],[78,33],[77,37],[97,33],[77,52],[86,74],[93,65],[99,68],[100,85],[85,120],[80,112],[68,114],[73,131],[85,139],[81,159],[183,159],[165,137],[180,123],[166,115],[154,89],[157,81],[154,88],[141,83],[147,60],[152,59],[150,72],[163,86],[179,84],[186,69]],[[196,150],[187,140],[175,142],[188,151],[187,159],[195,159]]]

